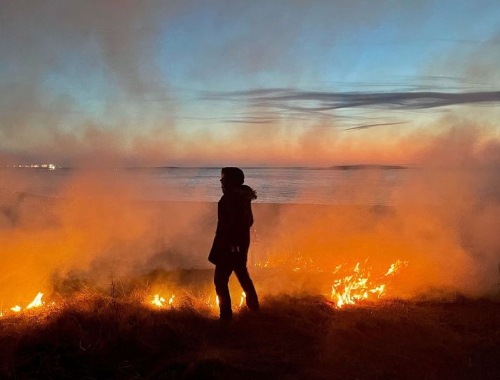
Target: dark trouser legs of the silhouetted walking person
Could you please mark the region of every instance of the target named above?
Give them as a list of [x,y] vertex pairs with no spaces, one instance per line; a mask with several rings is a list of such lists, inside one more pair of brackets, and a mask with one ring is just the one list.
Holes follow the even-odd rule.
[[246,262],[229,263],[224,262],[215,266],[215,292],[219,296],[220,318],[229,319],[233,315],[231,309],[231,294],[229,294],[229,277],[231,273],[236,273],[236,277],[246,294],[247,306],[250,310],[259,310],[259,299],[248,274]]

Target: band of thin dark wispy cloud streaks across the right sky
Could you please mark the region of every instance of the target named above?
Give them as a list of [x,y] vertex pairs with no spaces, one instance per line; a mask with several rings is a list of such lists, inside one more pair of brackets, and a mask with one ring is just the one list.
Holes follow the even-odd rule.
[[[232,103],[233,116],[219,123],[268,124],[278,121],[305,121],[341,130],[365,130],[382,125],[406,124],[405,114],[386,111],[429,111],[442,107],[500,103],[500,91],[445,92],[437,90],[401,91],[305,91],[295,88],[258,88],[243,91],[205,92],[201,100]],[[377,114],[378,113],[378,114]],[[356,123],[357,122],[357,123]],[[356,124],[355,124],[356,123]]]

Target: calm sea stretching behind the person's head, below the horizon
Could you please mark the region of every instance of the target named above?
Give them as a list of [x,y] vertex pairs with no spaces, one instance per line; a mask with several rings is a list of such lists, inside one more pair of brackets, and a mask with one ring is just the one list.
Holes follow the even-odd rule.
[[[10,171],[8,171],[10,170]],[[245,168],[245,184],[257,190],[257,202],[388,205],[414,169],[334,170],[312,168]],[[0,186],[43,196],[64,196],[62,189],[83,170],[3,169],[11,181]],[[101,173],[133,184],[135,197],[147,201],[218,201],[219,168],[119,169]],[[104,179],[102,179],[104,178]],[[106,186],[105,183],[102,186]]]

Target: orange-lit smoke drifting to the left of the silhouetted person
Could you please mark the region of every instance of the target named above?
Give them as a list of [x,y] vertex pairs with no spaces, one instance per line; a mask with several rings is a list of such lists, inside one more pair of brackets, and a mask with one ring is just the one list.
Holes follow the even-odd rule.
[[[3,177],[1,188],[36,186],[36,173]],[[13,184],[12,186],[9,186]],[[126,278],[163,269],[206,266],[213,236],[210,203],[140,201],[140,175],[75,170],[58,185],[58,197],[20,191],[1,194],[0,240],[4,249],[0,299],[17,302],[50,292],[53,278]],[[165,191],[175,197],[175,191]],[[15,290],[15,292],[13,292]]]

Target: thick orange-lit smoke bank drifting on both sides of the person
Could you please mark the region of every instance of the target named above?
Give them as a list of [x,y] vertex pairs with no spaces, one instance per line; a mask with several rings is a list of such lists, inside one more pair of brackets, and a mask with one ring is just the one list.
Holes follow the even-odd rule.
[[[450,151],[460,154],[450,156]],[[358,205],[255,204],[250,267],[257,287],[264,294],[326,294],[331,285],[331,278],[320,275],[308,285],[314,274],[301,282],[285,270],[266,277],[252,264],[267,259],[302,257],[324,271],[365,259],[383,271],[400,259],[409,265],[391,285],[392,296],[437,290],[494,294],[500,262],[500,183],[494,175],[499,152],[498,140],[477,128],[457,127],[419,153],[427,165],[408,169],[392,205],[362,204],[384,175],[381,170],[355,172],[342,188],[332,188],[333,203],[335,194],[348,191]],[[53,279],[65,276],[105,282],[112,275],[133,278],[158,268],[210,268],[214,203],[138,201],[140,178],[109,170],[74,170],[58,197],[40,198],[19,191],[29,189],[36,176],[22,182],[15,171],[8,173],[1,183],[0,214],[4,301],[29,297],[40,287],[50,292]],[[5,190],[13,186],[18,192]],[[315,191],[312,185],[306,190]]]

